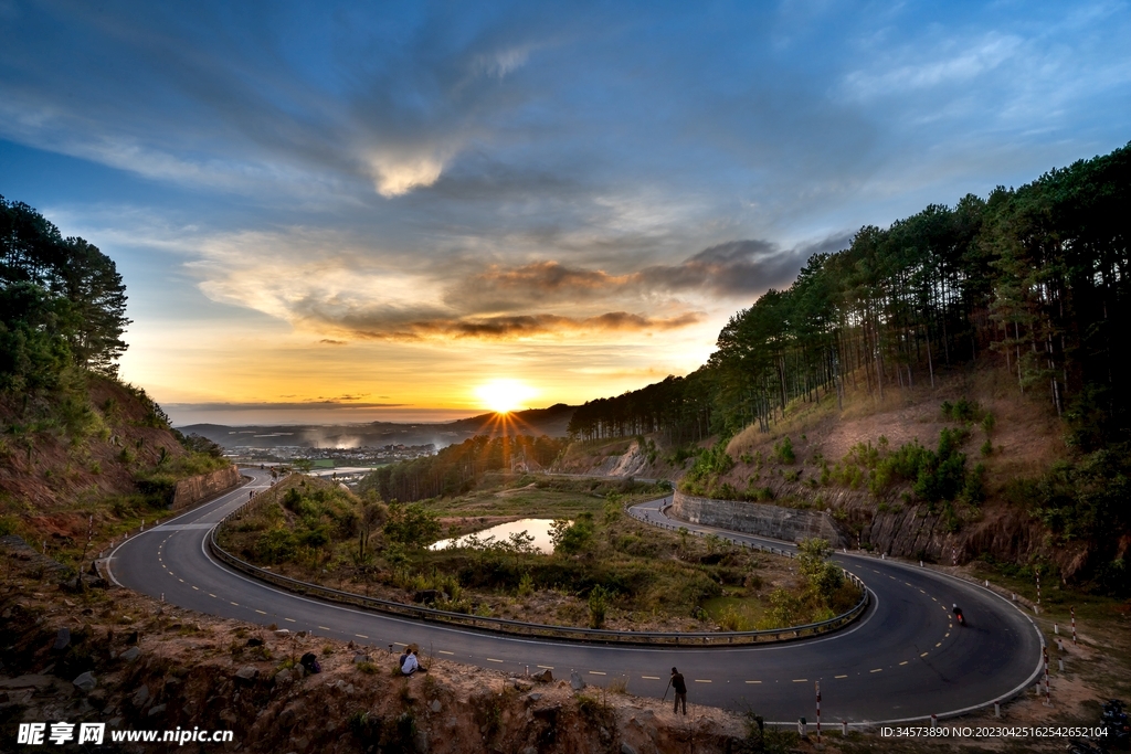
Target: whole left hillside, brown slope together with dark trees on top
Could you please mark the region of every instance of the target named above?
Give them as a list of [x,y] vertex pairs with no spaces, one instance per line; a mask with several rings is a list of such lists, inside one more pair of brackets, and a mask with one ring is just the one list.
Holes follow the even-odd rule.
[[118,381],[129,322],[113,260],[0,197],[0,534],[63,562],[87,536],[161,515],[178,480],[228,466]]

